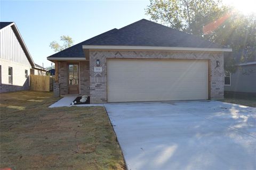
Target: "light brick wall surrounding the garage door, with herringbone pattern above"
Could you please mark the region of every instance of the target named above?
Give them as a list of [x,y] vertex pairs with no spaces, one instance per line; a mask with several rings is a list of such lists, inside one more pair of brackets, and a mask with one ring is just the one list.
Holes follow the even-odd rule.
[[[107,58],[143,59],[209,59],[211,99],[223,99],[224,67],[221,52],[159,52],[159,51],[90,51],[90,100],[91,103],[107,102]],[[96,60],[102,72],[94,72]],[[216,67],[216,61],[220,66]]]

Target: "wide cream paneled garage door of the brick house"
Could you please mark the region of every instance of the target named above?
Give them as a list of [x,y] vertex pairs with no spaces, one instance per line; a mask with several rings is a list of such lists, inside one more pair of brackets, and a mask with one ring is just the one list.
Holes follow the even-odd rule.
[[207,60],[107,60],[108,102],[208,99]]

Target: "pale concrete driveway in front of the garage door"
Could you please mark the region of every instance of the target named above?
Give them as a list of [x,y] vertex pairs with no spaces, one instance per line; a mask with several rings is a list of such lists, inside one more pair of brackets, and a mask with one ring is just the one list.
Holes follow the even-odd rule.
[[256,169],[256,108],[218,101],[105,104],[130,169]]

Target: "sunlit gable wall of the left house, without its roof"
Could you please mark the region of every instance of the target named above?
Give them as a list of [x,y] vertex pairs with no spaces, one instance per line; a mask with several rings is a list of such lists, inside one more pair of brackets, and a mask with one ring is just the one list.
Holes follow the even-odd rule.
[[[30,75],[30,63],[11,27],[0,30],[0,92],[28,90],[29,82],[25,70]],[[12,67],[12,84],[9,84],[9,67]]]

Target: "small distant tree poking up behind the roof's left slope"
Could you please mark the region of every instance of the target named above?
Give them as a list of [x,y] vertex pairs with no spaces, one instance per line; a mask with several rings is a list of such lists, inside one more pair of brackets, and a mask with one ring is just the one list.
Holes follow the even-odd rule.
[[60,41],[63,42],[62,45],[60,45],[57,41],[53,41],[50,43],[50,47],[53,48],[54,52],[62,51],[73,45],[73,39],[69,36],[60,36]]

